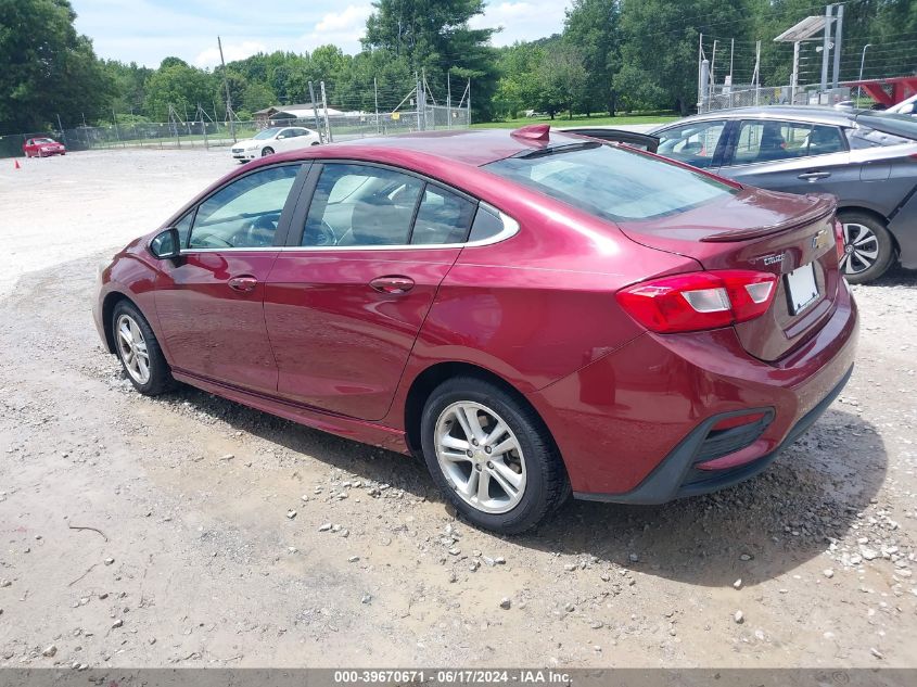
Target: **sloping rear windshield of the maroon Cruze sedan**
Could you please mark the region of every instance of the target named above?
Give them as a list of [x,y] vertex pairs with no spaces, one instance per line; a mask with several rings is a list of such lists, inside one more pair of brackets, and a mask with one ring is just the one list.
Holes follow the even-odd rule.
[[673,215],[737,192],[700,173],[597,142],[534,151],[484,168],[611,220]]

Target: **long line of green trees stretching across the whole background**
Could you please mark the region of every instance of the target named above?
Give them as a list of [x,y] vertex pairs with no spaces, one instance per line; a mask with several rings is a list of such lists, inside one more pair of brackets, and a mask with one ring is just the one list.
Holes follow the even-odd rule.
[[[375,0],[362,50],[335,46],[311,52],[272,52],[202,69],[178,58],[156,68],[100,60],[74,28],[68,0],[0,0],[0,132],[119,122],[181,118],[202,107],[226,117],[225,82],[239,118],[275,104],[309,102],[309,81],[323,80],[329,104],[345,110],[391,110],[416,75],[443,102],[473,89],[473,119],[513,118],[526,111],[556,115],[621,111],[690,112],[697,100],[701,35],[714,78],[750,82],[757,55],[761,84],[789,82],[792,47],[773,38],[812,14],[816,0],[573,0],[558,33],[492,47],[498,27],[473,28],[485,0]],[[848,0],[842,78],[913,74],[917,68],[917,3]],[[817,42],[817,41],[816,41]],[[820,43],[818,43],[820,44]],[[806,43],[801,82],[818,80],[820,55]],[[731,66],[730,66],[731,62]]]

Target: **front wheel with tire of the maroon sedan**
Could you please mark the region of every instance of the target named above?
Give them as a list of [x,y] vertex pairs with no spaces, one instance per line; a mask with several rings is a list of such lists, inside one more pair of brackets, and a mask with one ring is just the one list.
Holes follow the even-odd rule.
[[112,313],[115,351],[127,379],[147,396],[157,396],[171,384],[171,371],[147,318],[128,301]]

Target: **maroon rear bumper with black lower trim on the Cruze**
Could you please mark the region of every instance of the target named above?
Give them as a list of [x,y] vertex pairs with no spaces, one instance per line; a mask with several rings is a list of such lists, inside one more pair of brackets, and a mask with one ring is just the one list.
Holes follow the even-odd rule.
[[[527,397],[575,496],[663,502],[763,470],[843,389],[857,331],[844,284],[823,328],[776,362],[750,356],[731,328],[646,334]],[[724,417],[750,411],[763,415],[759,432],[711,440]]]

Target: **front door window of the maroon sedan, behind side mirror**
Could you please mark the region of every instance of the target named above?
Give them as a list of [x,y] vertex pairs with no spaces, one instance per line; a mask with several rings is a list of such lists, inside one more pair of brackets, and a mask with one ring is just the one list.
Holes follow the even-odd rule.
[[280,213],[298,165],[269,167],[224,187],[198,208],[190,249],[265,247],[273,244]]

